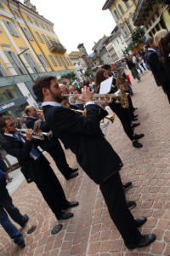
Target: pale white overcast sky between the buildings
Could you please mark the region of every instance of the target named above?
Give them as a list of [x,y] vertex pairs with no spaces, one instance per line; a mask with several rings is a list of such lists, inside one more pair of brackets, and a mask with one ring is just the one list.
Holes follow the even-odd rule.
[[[106,0],[31,0],[39,15],[54,22],[54,31],[67,53],[84,43],[88,54],[94,42],[109,36],[116,23],[109,10],[102,10]],[[23,2],[23,0],[21,1]]]

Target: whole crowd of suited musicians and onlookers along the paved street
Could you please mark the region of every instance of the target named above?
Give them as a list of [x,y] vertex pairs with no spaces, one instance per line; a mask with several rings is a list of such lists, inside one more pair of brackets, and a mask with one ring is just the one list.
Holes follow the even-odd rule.
[[[156,46],[159,47],[159,52],[156,51]],[[127,66],[133,78],[139,81],[144,72],[151,70],[156,83],[162,86],[170,100],[169,54],[170,34],[167,31],[157,32],[155,38],[148,38],[145,52],[140,49],[139,53],[127,56],[121,65],[105,64],[99,67],[94,80],[86,80],[69,87],[66,84],[59,84],[53,76],[37,79],[33,90],[37,101],[42,103],[41,110],[27,106],[23,119],[14,120],[8,115],[0,118],[3,149],[18,159],[27,183],[36,183],[37,189],[57,219],[72,218],[73,213],[66,210],[78,206],[77,201],[66,199],[64,189],[44,154],[48,152],[51,155],[66,180],[77,177],[78,169],[68,165],[61,141],[66,149],[70,148],[76,155],[78,164],[88,177],[99,184],[111,219],[122,235],[125,245],[133,249],[147,246],[156,240],[156,235],[142,235],[138,230],[147,218],[133,218],[130,209],[135,207],[136,203],[126,201],[125,197],[125,191],[130,189],[132,183],[122,184],[119,174],[123,165],[122,160],[107,142],[100,128],[101,121],[108,116],[106,109],[110,108],[120,119],[132,146],[143,147],[139,140],[144,134],[135,133],[135,127],[140,123],[134,123],[138,120],[138,115],[135,114],[137,108],[133,106],[132,83],[125,68]],[[111,90],[107,96],[99,96],[98,100],[102,102],[95,104],[94,92],[99,94],[101,83],[110,78]],[[121,93],[116,96],[118,90]],[[70,95],[76,98],[75,104],[69,101]],[[109,95],[113,96],[112,100]],[[37,139],[42,134],[43,139]],[[8,177],[2,171],[0,224],[15,244],[25,247],[22,233],[9,220],[7,212],[21,227],[26,225],[29,217],[26,214],[22,215],[18,208],[14,207],[6,189]]]

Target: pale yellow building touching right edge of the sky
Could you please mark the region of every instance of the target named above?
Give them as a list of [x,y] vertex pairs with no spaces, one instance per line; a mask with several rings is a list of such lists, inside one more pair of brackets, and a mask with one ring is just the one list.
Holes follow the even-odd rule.
[[122,0],[107,0],[103,10],[109,9],[116,24],[122,29],[124,40],[126,44],[131,42],[131,35],[135,26],[133,25],[133,13],[136,9],[138,0],[129,0],[123,2]]

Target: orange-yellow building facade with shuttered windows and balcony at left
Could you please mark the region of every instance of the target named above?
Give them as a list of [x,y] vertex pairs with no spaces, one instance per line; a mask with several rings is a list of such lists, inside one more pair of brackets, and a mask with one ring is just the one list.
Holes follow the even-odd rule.
[[27,104],[36,106],[31,87],[38,76],[73,70],[54,24],[30,0],[0,1],[0,114],[17,117]]

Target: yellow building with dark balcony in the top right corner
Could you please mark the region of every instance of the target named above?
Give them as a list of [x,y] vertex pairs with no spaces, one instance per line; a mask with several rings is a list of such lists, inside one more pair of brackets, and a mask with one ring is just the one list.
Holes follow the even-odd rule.
[[145,36],[153,37],[162,28],[170,30],[170,9],[168,5],[141,0],[133,17],[135,26],[146,28]]

